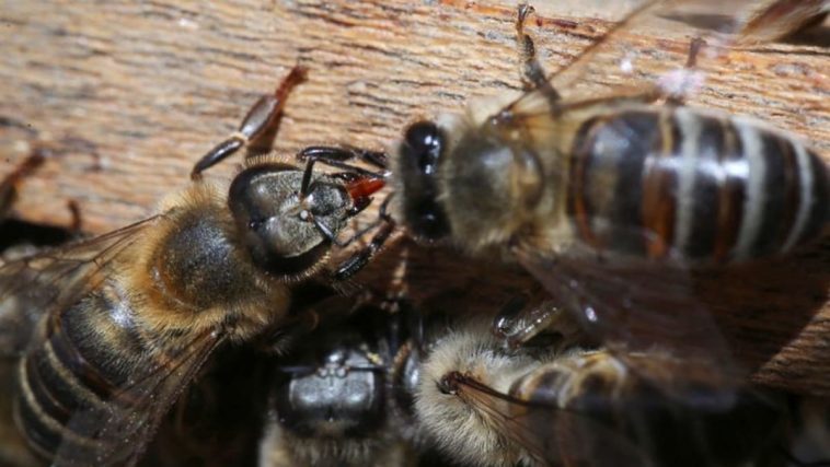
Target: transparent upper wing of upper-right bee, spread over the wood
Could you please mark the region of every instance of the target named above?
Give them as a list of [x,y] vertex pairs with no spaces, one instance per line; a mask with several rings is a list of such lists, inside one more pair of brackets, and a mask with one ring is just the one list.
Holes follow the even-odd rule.
[[[580,126],[598,114],[707,91],[708,77],[735,73],[737,45],[771,39],[820,16],[828,0],[643,0],[604,36],[550,75],[545,90],[522,94],[496,113],[506,135],[520,130],[564,154]],[[784,11],[782,11],[784,10]],[[817,12],[818,11],[818,12]],[[543,45],[539,45],[543,47]],[[712,80],[716,84],[717,80]],[[717,90],[713,90],[717,94]]]

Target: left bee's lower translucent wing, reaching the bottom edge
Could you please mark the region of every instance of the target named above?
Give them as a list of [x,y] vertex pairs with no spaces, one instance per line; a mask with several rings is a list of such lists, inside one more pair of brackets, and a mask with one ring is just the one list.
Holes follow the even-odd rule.
[[134,466],[162,418],[223,341],[209,331],[131,378],[103,404],[76,410],[53,466]]

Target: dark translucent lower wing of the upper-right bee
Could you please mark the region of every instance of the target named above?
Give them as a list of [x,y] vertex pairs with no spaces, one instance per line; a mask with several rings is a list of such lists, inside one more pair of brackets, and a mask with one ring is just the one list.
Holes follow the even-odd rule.
[[587,254],[542,257],[517,252],[519,261],[556,301],[634,372],[667,394],[685,399],[695,387],[667,385],[632,352],[662,350],[683,358],[731,400],[745,370],[736,362],[711,311],[696,299],[689,270],[665,265],[611,261]]

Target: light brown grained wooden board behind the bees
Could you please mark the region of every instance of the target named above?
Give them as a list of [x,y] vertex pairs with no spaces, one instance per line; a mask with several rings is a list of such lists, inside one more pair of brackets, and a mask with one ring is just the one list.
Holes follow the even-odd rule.
[[[576,4],[537,5],[538,21],[528,24],[551,71],[610,27],[596,16],[619,17]],[[186,186],[194,161],[295,63],[309,68],[309,81],[288,101],[278,151],[341,143],[384,149],[407,122],[518,90],[514,23],[515,4],[507,1],[5,2],[0,174],[32,148],[47,148],[47,163],[21,185],[15,214],[66,224],[66,202],[74,200],[83,230],[102,233],[147,215],[165,194]],[[645,74],[682,62],[689,47],[688,35],[671,30],[635,30],[625,39]],[[764,119],[809,140],[830,161],[829,44],[826,26],[797,40],[734,50],[708,66],[690,104]],[[583,84],[634,81],[611,74],[588,74]],[[227,177],[237,165],[221,164],[209,176]],[[385,283],[400,248],[380,258],[364,282]],[[494,265],[445,261],[446,250],[406,249],[414,252],[406,287],[415,295],[481,285],[495,292],[476,300],[496,306],[520,289],[517,281],[532,282]],[[701,285],[718,318],[742,336],[740,350],[758,364],[772,358],[758,381],[830,395],[828,261],[830,252],[819,247]]]

